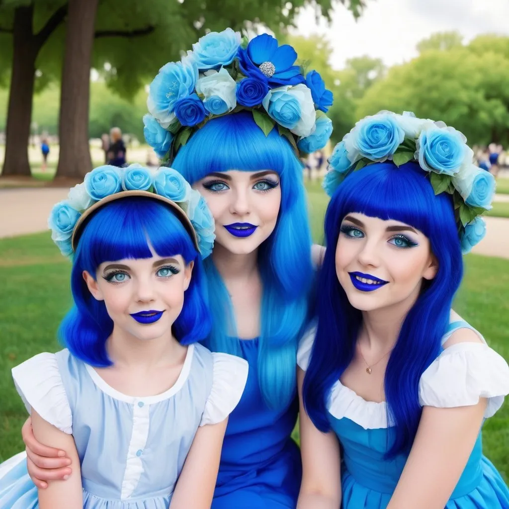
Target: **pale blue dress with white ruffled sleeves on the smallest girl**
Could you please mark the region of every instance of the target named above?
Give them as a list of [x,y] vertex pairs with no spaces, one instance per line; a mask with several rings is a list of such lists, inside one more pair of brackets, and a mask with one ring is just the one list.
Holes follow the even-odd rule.
[[[13,378],[29,412],[73,435],[85,509],[167,509],[196,431],[231,413],[247,371],[244,359],[194,344],[173,387],[151,397],[118,392],[68,350],[36,355]],[[24,457],[8,461],[0,508],[38,507]]]

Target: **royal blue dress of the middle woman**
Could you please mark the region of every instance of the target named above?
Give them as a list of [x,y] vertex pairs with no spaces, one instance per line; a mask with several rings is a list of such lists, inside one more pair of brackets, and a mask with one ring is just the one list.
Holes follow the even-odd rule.
[[294,509],[302,476],[290,437],[298,401],[287,409],[268,408],[258,381],[258,340],[237,341],[249,374],[228,421],[211,509]]

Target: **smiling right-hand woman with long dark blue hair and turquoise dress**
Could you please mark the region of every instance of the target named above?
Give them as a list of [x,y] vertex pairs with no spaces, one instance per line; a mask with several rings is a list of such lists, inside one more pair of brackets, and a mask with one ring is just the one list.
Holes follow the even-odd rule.
[[389,113],[333,153],[318,324],[297,357],[299,509],[509,507],[480,435],[509,368],[451,312],[494,191],[472,155],[453,128]]

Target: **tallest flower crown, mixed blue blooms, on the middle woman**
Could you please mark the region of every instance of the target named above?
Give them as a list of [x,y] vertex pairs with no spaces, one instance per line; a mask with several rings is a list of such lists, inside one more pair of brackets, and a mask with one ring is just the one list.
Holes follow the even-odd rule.
[[299,155],[325,147],[332,92],[316,71],[296,66],[297,53],[268,34],[250,42],[228,28],[203,36],[180,62],[169,62],[150,84],[145,139],[171,162],[189,136],[209,120],[252,111],[267,136],[277,124]]

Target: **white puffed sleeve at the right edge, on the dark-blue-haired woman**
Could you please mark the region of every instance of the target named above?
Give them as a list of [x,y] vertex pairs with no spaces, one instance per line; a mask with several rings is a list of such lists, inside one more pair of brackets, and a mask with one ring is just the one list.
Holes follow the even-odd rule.
[[486,344],[457,343],[446,348],[422,374],[419,403],[453,408],[487,398],[485,418],[502,406],[509,393],[509,366]]

